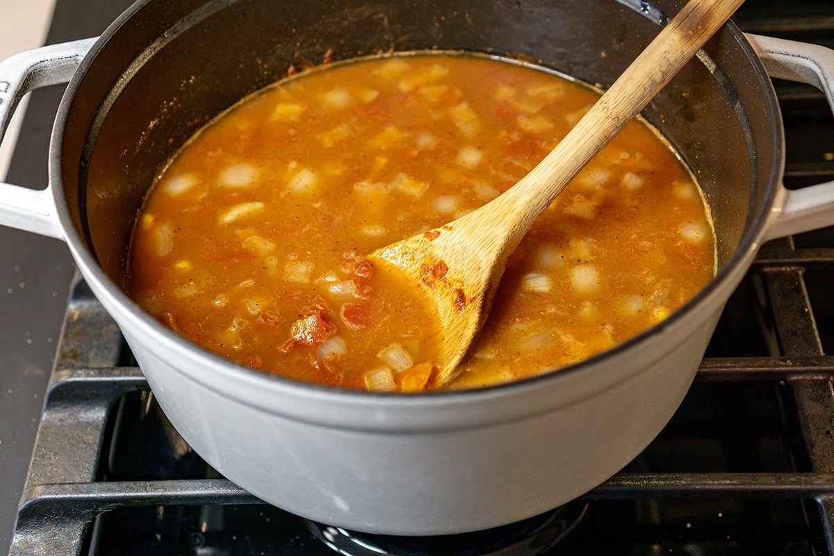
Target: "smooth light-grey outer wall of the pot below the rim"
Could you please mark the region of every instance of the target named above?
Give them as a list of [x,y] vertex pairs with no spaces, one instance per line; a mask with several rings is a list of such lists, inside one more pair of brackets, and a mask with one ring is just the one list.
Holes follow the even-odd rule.
[[322,523],[424,535],[529,518],[623,468],[686,395],[742,275],[651,338],[545,380],[370,403],[160,343],[93,290],[174,427],[234,483]]

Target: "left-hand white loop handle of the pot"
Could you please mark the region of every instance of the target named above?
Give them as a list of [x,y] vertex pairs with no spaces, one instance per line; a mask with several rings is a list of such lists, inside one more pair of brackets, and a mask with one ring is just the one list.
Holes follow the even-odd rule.
[[[87,38],[35,48],[0,62],[0,138],[20,100],[36,88],[67,83],[95,43]],[[0,183],[0,224],[63,239],[52,186],[30,189]]]

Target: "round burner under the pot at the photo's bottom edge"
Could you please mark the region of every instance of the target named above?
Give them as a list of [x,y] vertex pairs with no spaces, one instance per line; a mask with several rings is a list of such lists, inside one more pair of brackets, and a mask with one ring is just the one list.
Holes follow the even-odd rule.
[[321,542],[344,556],[504,556],[545,553],[565,538],[589,503],[575,500],[532,518],[501,527],[434,537],[357,533],[304,520]]

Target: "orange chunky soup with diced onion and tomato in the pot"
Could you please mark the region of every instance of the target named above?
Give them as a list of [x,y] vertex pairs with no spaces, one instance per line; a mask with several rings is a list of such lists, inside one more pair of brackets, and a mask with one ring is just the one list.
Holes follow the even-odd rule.
[[[406,285],[381,284],[365,256],[500,195],[596,98],[539,68],[455,53],[285,79],[215,118],[158,176],[133,232],[129,293],[194,343],[267,373],[434,388],[435,314]],[[715,261],[700,189],[635,120],[520,243],[445,388],[605,351],[686,303]]]

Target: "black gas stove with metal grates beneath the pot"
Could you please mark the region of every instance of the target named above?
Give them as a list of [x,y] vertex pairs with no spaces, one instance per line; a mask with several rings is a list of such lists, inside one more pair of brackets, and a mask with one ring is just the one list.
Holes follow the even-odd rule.
[[[48,40],[98,34],[127,7],[58,0]],[[748,0],[734,19],[834,48],[827,0]],[[825,98],[776,90],[786,186],[834,179]],[[8,181],[45,181],[59,93],[33,95]],[[434,538],[312,523],[230,483],[168,423],[63,246],[11,230],[0,243],[12,284],[0,310],[10,555],[834,554],[834,228],[761,248],[681,408],[615,477],[525,522]]]

